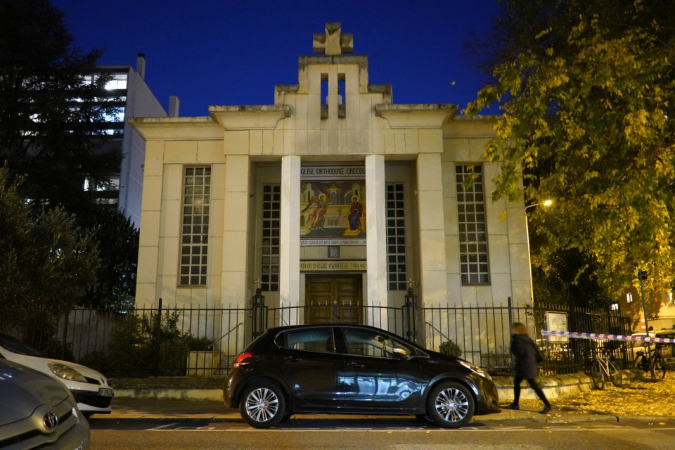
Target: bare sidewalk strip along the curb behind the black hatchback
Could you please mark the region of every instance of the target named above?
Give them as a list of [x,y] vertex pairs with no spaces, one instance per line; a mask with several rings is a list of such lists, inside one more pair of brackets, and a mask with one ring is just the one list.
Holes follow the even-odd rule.
[[[558,411],[553,409],[546,415],[539,414],[537,409],[521,409],[511,411],[503,409],[500,413],[484,416],[475,416],[473,423],[513,423],[513,421],[535,421],[544,423],[574,423],[574,422],[608,422],[617,423],[619,418],[604,414],[589,414],[579,411]],[[328,415],[328,414],[299,414],[293,418],[323,419],[384,419],[399,418],[410,420],[410,416],[371,416],[371,415]],[[105,415],[95,415],[91,420],[126,421],[139,419],[153,420],[211,420],[216,423],[231,423],[243,421],[239,411],[227,408],[220,401],[197,400],[162,400],[162,399],[113,399],[113,412]],[[653,420],[653,418],[650,418]]]

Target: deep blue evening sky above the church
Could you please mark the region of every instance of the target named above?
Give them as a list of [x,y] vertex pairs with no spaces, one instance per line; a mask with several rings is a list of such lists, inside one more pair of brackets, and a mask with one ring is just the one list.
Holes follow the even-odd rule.
[[[53,0],[75,44],[103,49],[102,65],[136,65],[181,116],[208,105],[269,105],[275,84],[297,84],[297,56],[311,54],[326,22],[354,34],[371,83],[392,84],[394,103],[458,103],[484,84],[464,43],[483,34],[494,0]],[[454,86],[452,82],[455,82]]]

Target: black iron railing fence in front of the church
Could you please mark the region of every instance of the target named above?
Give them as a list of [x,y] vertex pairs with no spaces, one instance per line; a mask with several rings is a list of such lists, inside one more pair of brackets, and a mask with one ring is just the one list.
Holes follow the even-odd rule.
[[[259,295],[259,293],[257,294]],[[266,307],[264,297],[247,307],[86,308],[67,314],[51,310],[0,310],[0,330],[15,335],[58,359],[77,361],[108,376],[188,375],[221,377],[249,342],[266,328],[316,321],[311,306]],[[253,299],[255,300],[255,299]],[[408,301],[411,300],[411,301]],[[337,306],[336,306],[337,308]],[[359,317],[361,323],[385,328],[435,351],[460,352],[463,359],[493,375],[510,373],[510,323],[531,330],[544,353],[546,373],[584,371],[591,360],[591,341],[541,338],[548,315],[564,314],[569,330],[584,333],[631,333],[631,321],[616,311],[561,308],[556,305],[515,307],[510,304],[462,307],[342,308],[325,320]],[[338,319],[330,319],[337,317]],[[455,353],[453,353],[455,354]],[[616,347],[619,365],[633,361],[630,349]]]

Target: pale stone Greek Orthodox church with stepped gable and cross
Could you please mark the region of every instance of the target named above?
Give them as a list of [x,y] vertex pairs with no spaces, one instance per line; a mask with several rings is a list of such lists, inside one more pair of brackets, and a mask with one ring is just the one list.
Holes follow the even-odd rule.
[[318,307],[285,323],[387,328],[377,307],[409,288],[421,307],[531,304],[525,205],[493,203],[480,160],[496,118],[394,103],[339,23],[313,41],[274,104],[129,120],[146,140],[137,307],[247,307],[259,288]]

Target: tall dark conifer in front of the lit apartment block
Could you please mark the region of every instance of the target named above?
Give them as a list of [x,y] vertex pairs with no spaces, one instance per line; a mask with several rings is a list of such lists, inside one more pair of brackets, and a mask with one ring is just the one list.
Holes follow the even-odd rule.
[[120,170],[120,154],[102,131],[119,99],[105,93],[100,55],[73,46],[49,0],[0,0],[0,164],[21,179],[16,186],[35,214],[62,208],[51,214],[64,221],[75,214],[77,226],[93,231],[87,238],[98,243],[101,264],[92,266],[98,276],[84,300],[108,304],[133,301],[138,232],[84,191],[85,179],[105,185]]

